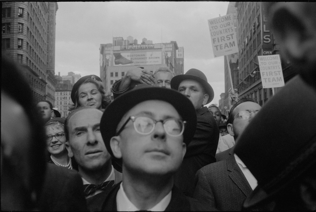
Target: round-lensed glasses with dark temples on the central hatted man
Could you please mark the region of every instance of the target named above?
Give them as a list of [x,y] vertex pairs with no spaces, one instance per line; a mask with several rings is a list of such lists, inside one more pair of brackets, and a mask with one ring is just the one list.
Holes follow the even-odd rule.
[[176,118],[167,118],[165,120],[154,120],[152,118],[146,116],[130,116],[123,124],[121,129],[116,133],[118,136],[124,129],[125,125],[128,123],[129,120],[132,120],[134,123],[134,128],[137,133],[141,135],[149,135],[154,131],[155,125],[157,122],[161,122],[163,125],[163,129],[169,136],[177,137],[181,136],[184,131],[184,125],[186,121],[182,121]]

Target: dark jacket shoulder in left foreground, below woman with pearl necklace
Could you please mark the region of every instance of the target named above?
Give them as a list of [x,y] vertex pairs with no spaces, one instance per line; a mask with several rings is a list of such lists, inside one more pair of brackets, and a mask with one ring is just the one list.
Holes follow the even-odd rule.
[[79,173],[47,163],[38,208],[44,211],[87,211]]

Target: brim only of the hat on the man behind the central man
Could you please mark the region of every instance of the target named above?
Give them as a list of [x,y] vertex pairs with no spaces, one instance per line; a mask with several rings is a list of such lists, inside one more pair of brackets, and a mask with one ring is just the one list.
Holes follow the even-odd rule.
[[190,74],[180,74],[177,76],[174,76],[171,79],[171,88],[178,90],[180,83],[183,80],[195,80],[202,84],[205,92],[209,95],[209,99],[207,100],[206,104],[209,104],[214,99],[214,90],[212,86],[206,82],[204,79],[198,76],[190,75]]

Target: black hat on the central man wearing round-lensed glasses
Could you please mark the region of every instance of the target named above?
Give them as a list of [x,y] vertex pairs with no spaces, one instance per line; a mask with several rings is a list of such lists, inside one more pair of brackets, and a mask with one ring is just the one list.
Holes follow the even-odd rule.
[[116,128],[125,113],[146,100],[166,101],[178,111],[182,120],[186,121],[183,132],[183,142],[185,142],[186,145],[189,144],[195,133],[197,116],[194,106],[188,98],[172,89],[151,87],[145,84],[137,85],[132,90],[120,95],[108,105],[100,122],[101,135],[107,151],[112,156],[112,165],[119,172],[122,172],[122,159],[115,158],[113,155],[110,139],[115,136]]

